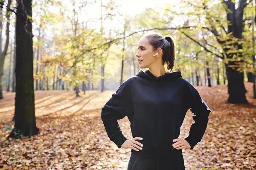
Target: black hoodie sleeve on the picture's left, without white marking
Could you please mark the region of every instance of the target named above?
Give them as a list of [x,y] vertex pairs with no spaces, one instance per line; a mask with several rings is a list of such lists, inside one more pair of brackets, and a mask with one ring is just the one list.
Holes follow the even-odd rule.
[[122,134],[122,130],[117,120],[123,119],[129,112],[133,111],[131,94],[129,90],[129,79],[123,82],[111,99],[102,108],[101,118],[105,126],[108,137],[118,148],[127,140]]

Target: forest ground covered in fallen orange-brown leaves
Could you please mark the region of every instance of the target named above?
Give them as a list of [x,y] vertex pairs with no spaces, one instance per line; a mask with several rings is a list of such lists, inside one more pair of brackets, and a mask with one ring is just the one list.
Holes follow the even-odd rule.
[[[227,104],[227,86],[196,87],[213,113],[206,133],[193,150],[183,150],[186,170],[256,169],[256,99],[246,83],[250,104]],[[35,91],[37,136],[6,140],[14,122],[15,94],[0,100],[0,168],[31,170],[126,170],[131,149],[116,147],[105,132],[101,108],[115,91]],[[188,135],[192,113],[187,112],[179,138]],[[118,120],[131,138],[127,117]],[[8,128],[11,126],[11,128]],[[7,128],[6,128],[7,127]]]

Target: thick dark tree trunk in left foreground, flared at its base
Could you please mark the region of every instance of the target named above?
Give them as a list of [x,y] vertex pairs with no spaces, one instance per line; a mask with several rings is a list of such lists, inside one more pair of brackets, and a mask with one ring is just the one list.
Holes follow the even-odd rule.
[[17,0],[15,127],[9,137],[38,134],[33,83],[32,0]]

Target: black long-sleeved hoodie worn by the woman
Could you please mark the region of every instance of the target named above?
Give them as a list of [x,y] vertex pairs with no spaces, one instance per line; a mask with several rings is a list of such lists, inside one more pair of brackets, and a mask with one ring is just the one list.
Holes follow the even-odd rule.
[[[185,140],[191,150],[204,136],[212,112],[198,91],[180,71],[155,77],[149,70],[123,82],[102,108],[102,121],[108,137],[118,148],[127,140],[117,120],[128,116],[133,137],[143,144],[137,152],[147,156],[166,156],[177,149],[172,146],[180,135],[180,126],[188,110],[194,121]],[[176,150],[176,151],[175,151]],[[181,151],[181,150],[179,150]]]

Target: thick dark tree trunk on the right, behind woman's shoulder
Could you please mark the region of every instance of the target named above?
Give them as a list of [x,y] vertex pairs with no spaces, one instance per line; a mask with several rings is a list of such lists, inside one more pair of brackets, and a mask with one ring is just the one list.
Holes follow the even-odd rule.
[[[244,15],[244,7],[246,6],[246,0],[240,0],[239,6],[236,9],[235,3],[231,0],[223,1],[227,5],[227,8],[232,11],[227,11],[227,21],[230,22],[228,24],[228,33],[232,33],[234,37],[238,40],[242,38],[242,32],[244,28],[243,24],[243,15]],[[238,50],[242,49],[242,45],[235,41],[231,44],[234,48],[237,47]],[[229,45],[230,46],[230,45]],[[244,87],[244,73],[237,71],[236,67],[244,64],[244,59],[241,53],[229,53],[230,47],[225,45],[224,51],[227,55],[228,59],[232,59],[225,63],[226,71],[227,71],[227,81],[228,81],[228,93],[229,97],[227,102],[229,103],[247,103],[247,99],[245,96],[246,89]],[[239,62],[234,61],[233,57],[241,57]],[[233,68],[234,67],[234,68]],[[240,66],[241,68],[241,66]]]

